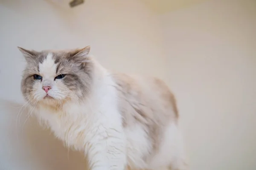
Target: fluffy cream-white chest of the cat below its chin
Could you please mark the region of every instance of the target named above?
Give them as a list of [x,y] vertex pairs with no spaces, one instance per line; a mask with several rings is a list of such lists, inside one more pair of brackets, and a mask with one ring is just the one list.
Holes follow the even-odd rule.
[[[38,116],[46,122],[55,136],[70,146],[78,147],[90,140],[94,127],[93,111],[76,106],[62,111],[52,111],[47,108],[38,110]],[[93,123],[94,122],[94,123]],[[79,144],[81,143],[81,144]]]

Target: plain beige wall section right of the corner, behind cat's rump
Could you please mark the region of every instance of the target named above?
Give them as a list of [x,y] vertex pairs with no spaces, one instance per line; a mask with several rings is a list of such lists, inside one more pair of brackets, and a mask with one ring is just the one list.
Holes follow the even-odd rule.
[[256,1],[160,16],[191,170],[256,169]]

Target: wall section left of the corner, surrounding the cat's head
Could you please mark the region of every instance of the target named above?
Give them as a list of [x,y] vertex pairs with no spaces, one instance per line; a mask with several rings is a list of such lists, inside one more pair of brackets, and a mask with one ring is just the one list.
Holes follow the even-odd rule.
[[84,170],[85,164],[83,156],[68,152],[36,120],[24,124],[27,111],[14,103],[23,101],[25,66],[17,46],[43,50],[91,45],[106,68],[165,78],[159,34],[156,16],[136,0],[86,0],[69,10],[47,0],[1,0],[0,98],[12,102],[0,101],[0,169]]

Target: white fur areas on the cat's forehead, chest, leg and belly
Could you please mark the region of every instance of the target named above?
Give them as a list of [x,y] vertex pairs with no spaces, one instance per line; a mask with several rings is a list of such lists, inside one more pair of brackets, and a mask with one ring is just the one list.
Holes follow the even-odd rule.
[[[172,162],[176,162],[175,168],[181,170],[177,160],[183,159],[183,151],[176,125],[169,125],[160,152],[149,164],[145,162],[143,156],[151,150],[145,131],[140,125],[122,127],[114,82],[104,68],[96,67],[101,72],[93,82],[93,91],[88,99],[66,102],[62,110],[55,113],[39,105],[35,109],[36,115],[67,146],[87,154],[92,170],[124,170],[127,164],[138,169],[160,170]],[[51,54],[39,68],[46,79],[55,77],[56,65]],[[38,88],[38,91],[45,96],[42,89]]]

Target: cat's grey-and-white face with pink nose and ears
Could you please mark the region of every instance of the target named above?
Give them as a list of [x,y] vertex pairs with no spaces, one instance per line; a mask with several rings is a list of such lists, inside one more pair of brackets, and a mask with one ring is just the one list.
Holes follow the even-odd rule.
[[90,91],[93,63],[87,54],[90,47],[71,51],[28,51],[19,48],[27,66],[21,90],[32,103],[81,99]]

